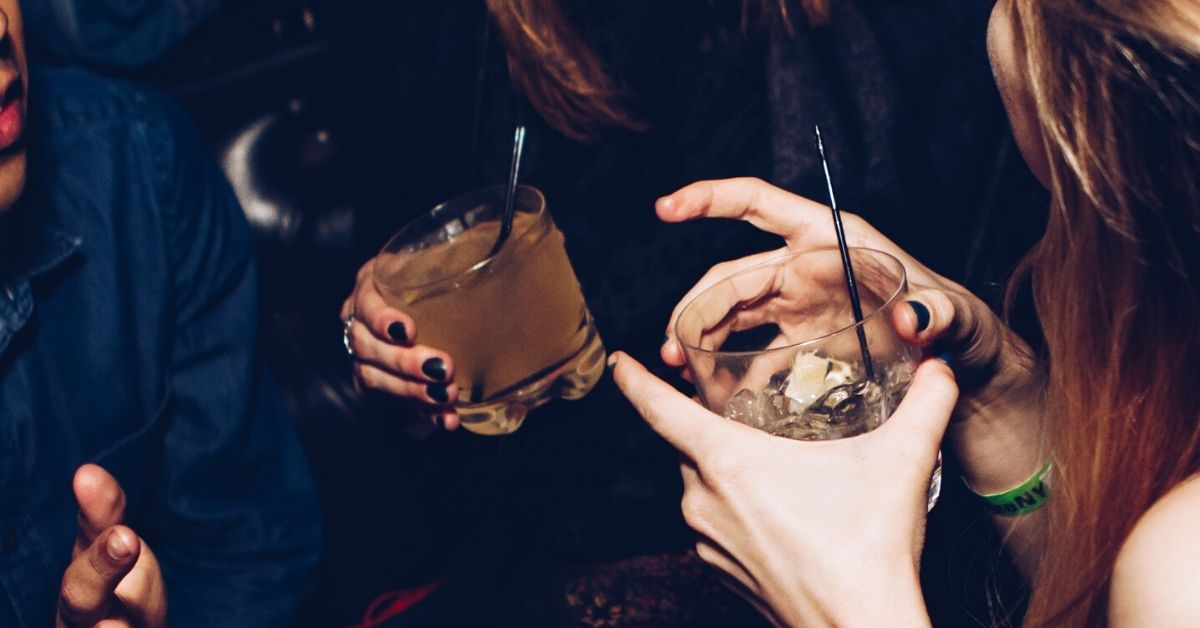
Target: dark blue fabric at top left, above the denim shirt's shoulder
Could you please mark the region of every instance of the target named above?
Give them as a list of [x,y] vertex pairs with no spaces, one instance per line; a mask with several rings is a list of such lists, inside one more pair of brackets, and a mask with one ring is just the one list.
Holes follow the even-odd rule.
[[220,0],[22,0],[25,34],[56,61],[127,70],[158,58]]

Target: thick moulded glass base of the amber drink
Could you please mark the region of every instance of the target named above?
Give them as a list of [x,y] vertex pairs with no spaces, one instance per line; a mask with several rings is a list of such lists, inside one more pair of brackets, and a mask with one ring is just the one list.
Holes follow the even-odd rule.
[[498,399],[482,403],[458,403],[458,420],[467,430],[485,436],[512,433],[529,411],[553,399],[580,399],[596,385],[605,369],[604,343],[589,325],[583,348],[562,366]]

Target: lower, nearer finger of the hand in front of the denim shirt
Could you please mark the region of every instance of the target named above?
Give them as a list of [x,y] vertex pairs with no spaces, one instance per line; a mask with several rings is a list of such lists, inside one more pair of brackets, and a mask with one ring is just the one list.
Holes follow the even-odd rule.
[[116,585],[133,569],[142,543],[125,526],[113,526],[67,566],[59,590],[59,624],[91,627],[112,608]]

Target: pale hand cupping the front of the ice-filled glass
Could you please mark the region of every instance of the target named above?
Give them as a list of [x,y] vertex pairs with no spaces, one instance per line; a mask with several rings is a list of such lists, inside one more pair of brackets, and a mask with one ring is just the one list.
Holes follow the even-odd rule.
[[925,494],[958,389],[926,360],[881,427],[788,441],[718,417],[613,354],[613,377],[682,455],[696,550],[782,626],[928,626]]

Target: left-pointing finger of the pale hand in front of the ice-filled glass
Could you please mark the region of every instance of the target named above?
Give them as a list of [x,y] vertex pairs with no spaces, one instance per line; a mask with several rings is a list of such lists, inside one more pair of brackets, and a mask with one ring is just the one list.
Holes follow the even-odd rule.
[[608,358],[617,387],[659,436],[685,457],[696,460],[728,430],[742,427],[708,412],[695,401],[654,377],[637,360],[616,352]]

